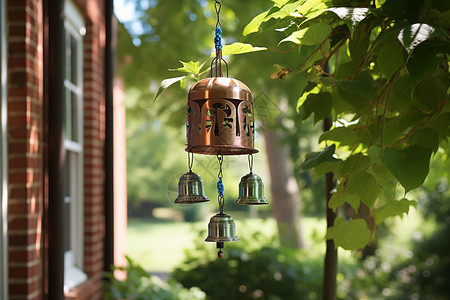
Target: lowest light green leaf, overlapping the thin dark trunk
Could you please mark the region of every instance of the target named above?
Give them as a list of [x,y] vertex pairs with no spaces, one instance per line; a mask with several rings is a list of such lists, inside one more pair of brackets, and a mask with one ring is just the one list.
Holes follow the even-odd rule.
[[333,227],[327,230],[327,239],[333,239],[336,248],[340,246],[346,250],[357,250],[369,243],[370,231],[363,219],[345,221],[337,217]]

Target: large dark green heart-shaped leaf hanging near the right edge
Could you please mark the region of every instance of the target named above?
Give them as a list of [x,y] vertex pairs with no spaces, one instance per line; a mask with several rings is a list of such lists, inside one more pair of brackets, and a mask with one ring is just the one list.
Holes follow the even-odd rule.
[[384,163],[406,192],[423,184],[428,175],[431,150],[413,145],[404,150],[387,148]]

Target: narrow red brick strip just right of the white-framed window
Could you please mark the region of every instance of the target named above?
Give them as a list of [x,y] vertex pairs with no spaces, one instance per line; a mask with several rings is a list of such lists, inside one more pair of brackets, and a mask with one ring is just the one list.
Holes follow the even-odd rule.
[[[81,2],[81,1],[80,1]],[[102,0],[90,1],[84,37],[84,271],[92,278],[94,290],[101,288],[104,238],[105,22]],[[96,299],[99,295],[89,299]]]

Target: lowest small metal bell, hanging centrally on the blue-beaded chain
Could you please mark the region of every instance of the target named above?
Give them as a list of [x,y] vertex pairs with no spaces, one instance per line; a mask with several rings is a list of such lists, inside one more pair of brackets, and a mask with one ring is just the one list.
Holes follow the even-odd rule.
[[[211,217],[208,224],[208,237],[205,242],[234,242],[239,241],[236,236],[236,224],[227,214],[216,214]],[[222,247],[220,247],[222,248]]]

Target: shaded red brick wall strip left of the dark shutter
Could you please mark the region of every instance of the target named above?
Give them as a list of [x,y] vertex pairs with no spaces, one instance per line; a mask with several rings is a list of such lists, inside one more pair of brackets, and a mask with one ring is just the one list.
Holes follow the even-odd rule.
[[10,299],[42,296],[42,0],[8,1]]

